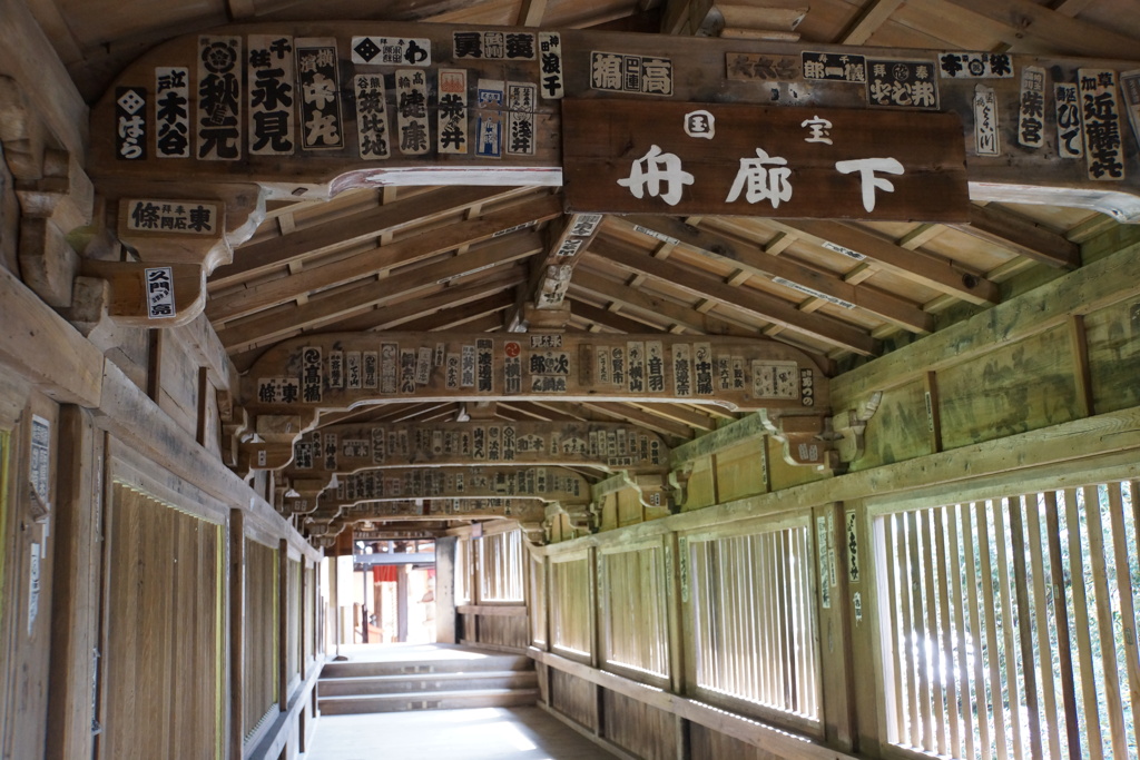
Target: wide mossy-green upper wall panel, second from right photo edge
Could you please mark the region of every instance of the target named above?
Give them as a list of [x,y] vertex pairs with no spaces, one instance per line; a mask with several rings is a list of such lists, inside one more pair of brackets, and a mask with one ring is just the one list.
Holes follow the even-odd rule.
[[938,395],[946,450],[1076,419],[1067,326],[939,371]]

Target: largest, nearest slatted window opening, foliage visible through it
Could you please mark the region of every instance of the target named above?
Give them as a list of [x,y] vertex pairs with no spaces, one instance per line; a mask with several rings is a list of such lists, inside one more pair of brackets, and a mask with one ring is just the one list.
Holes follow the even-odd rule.
[[873,518],[891,744],[1134,757],[1138,481]]

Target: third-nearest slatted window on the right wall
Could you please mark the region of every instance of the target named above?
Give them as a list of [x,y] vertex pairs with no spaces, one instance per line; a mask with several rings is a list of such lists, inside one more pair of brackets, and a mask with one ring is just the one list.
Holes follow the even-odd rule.
[[633,670],[658,681],[669,678],[663,554],[660,540],[604,551],[600,554],[597,585],[606,668]]

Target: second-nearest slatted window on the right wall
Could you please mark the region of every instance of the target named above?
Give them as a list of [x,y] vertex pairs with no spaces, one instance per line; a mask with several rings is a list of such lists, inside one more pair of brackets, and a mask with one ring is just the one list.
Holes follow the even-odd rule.
[[698,694],[817,727],[819,622],[807,518],[744,536],[687,537],[684,544]]

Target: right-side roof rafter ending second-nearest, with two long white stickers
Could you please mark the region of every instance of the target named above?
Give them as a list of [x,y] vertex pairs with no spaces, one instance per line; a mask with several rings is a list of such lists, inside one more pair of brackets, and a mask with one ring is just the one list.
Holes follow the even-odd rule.
[[842,278],[830,272],[772,255],[746,240],[686,224],[671,216],[636,215],[624,218],[620,223],[671,237],[715,261],[731,263],[748,273],[773,280],[782,278],[830,299],[839,299],[911,333],[934,332],[934,317],[904,299],[845,283]]

